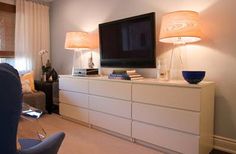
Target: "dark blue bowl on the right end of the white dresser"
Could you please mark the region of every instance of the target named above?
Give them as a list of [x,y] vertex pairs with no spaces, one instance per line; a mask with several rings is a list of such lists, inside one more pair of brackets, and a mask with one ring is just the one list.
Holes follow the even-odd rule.
[[206,72],[205,71],[182,71],[184,79],[190,84],[198,84],[201,82]]

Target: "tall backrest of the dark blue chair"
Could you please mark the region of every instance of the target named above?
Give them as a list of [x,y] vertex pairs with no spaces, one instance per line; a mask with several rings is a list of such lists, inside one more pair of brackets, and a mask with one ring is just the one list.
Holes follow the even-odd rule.
[[15,154],[17,126],[22,106],[22,89],[17,70],[0,64],[0,153]]

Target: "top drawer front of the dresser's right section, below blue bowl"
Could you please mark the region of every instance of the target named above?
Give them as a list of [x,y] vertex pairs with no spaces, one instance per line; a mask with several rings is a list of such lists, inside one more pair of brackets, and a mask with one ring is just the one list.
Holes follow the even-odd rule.
[[133,84],[132,100],[148,104],[200,111],[200,89]]

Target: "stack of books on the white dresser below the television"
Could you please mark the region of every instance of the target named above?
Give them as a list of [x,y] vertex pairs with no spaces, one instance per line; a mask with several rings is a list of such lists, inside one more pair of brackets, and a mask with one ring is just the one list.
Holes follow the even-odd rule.
[[108,76],[109,79],[119,80],[139,80],[143,77],[136,72],[136,70],[113,70]]

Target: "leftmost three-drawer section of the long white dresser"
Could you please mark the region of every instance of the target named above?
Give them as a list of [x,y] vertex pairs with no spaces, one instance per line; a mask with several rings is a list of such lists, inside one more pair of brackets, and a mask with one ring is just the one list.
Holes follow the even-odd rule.
[[88,80],[59,78],[59,110],[62,116],[89,123]]

